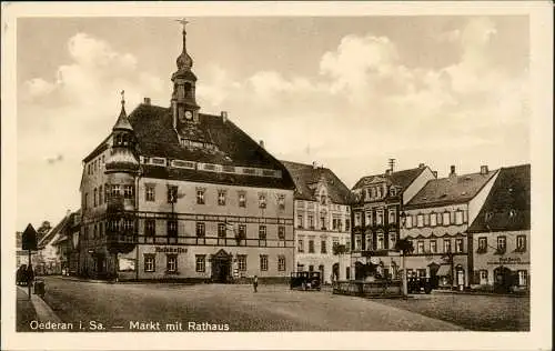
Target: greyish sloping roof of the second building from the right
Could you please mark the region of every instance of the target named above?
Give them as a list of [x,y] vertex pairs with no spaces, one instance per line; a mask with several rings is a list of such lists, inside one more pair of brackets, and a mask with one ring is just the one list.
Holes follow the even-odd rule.
[[497,171],[432,179],[406,204],[406,209],[463,203],[472,200]]

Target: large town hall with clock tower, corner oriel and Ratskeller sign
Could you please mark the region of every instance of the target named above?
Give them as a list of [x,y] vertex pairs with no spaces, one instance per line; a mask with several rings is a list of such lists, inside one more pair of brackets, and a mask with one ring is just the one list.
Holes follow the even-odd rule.
[[287,170],[228,118],[200,112],[183,51],[169,108],[144,99],[83,160],[80,267],[110,279],[284,280],[294,269]]

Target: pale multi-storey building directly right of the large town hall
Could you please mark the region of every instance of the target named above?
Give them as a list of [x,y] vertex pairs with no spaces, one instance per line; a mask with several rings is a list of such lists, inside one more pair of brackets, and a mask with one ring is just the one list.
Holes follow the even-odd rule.
[[296,271],[320,271],[322,282],[346,279],[352,200],[349,188],[327,168],[282,161],[293,178]]

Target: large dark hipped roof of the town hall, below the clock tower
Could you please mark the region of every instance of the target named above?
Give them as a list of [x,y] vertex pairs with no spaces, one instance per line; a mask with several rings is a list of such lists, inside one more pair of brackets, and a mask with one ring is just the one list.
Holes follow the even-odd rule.
[[[220,116],[199,113],[199,123],[184,131],[194,140],[214,144],[218,150],[181,146],[169,108],[142,103],[129,114],[128,120],[137,138],[138,152],[143,157],[271,169],[282,173],[282,178],[271,178],[142,164],[144,177],[294,189],[294,182],[285,167],[229,119],[224,122]],[[89,154],[85,161],[104,150],[107,142],[108,139]]]

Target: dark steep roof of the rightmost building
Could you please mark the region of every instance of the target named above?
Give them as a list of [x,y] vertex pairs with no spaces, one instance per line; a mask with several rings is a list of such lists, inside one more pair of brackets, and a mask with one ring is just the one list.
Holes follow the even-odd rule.
[[502,168],[468,232],[529,230],[531,167]]

